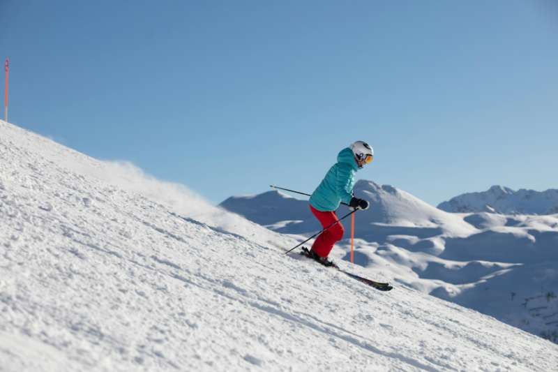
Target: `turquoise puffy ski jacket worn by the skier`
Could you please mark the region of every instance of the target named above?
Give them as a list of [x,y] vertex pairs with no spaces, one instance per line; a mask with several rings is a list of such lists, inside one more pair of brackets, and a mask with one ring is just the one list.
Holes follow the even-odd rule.
[[310,204],[319,211],[335,211],[341,202],[349,204],[353,197],[354,175],[359,165],[354,160],[353,151],[349,147],[342,149],[335,163],[318,185]]

